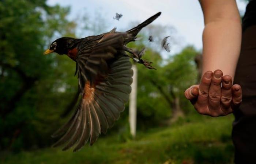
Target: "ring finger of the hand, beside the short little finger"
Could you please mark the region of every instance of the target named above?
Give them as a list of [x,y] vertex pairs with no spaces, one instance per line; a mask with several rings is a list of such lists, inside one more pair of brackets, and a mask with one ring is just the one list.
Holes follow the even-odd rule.
[[223,113],[229,114],[232,112],[231,101],[232,101],[232,77],[225,75],[222,77],[221,87],[221,109]]

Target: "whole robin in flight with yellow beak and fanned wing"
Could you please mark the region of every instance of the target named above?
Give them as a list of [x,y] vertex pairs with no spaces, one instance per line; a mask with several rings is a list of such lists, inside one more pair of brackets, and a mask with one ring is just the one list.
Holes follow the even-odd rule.
[[[62,136],[53,147],[65,144],[63,150],[75,145],[75,151],[86,144],[92,145],[100,133],[111,128],[131,93],[133,71],[129,58],[136,59],[149,69],[151,62],[141,59],[141,53],[125,45],[135,41],[138,32],[157,17],[158,12],[126,32],[114,28],[97,36],[82,39],[63,37],[50,44],[44,54],[66,54],[76,62],[80,102],[74,115],[52,137]],[[126,52],[129,52],[128,55]]]

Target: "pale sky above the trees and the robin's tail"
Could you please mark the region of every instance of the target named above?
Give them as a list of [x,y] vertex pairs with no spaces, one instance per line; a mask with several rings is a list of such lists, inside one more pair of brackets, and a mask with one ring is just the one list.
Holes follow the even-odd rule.
[[[244,12],[246,4],[241,0],[236,2],[238,9]],[[153,23],[173,26],[179,36],[179,45],[171,53],[177,53],[188,44],[202,49],[204,22],[198,0],[48,0],[47,3],[71,6],[70,19],[84,11],[91,15],[100,13],[104,21],[117,30],[128,30],[129,23],[143,22],[161,11],[162,15]],[[113,19],[116,12],[123,14],[119,21]]]

